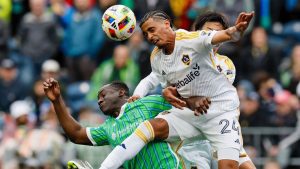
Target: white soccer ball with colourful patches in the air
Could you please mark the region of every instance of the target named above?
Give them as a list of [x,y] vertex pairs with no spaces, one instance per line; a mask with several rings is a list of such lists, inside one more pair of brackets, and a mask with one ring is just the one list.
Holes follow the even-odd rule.
[[134,13],[124,5],[109,7],[102,16],[102,29],[115,41],[129,38],[136,27]]

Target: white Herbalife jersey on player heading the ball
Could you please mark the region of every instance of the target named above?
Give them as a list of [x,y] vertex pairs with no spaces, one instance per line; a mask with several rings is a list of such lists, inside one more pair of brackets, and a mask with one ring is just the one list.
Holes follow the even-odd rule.
[[163,87],[175,85],[178,93],[210,97],[211,113],[235,110],[239,106],[236,89],[216,69],[212,37],[216,31],[176,31],[174,51],[170,55],[157,47],[151,54],[152,72]]

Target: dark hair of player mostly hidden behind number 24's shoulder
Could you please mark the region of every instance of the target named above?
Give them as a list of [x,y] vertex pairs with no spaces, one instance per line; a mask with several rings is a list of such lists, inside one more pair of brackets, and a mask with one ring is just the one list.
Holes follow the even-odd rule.
[[224,15],[217,12],[210,11],[210,12],[205,12],[196,18],[193,24],[193,29],[194,30],[202,29],[203,25],[206,22],[218,22],[223,26],[224,29],[227,29],[229,27],[227,18]]

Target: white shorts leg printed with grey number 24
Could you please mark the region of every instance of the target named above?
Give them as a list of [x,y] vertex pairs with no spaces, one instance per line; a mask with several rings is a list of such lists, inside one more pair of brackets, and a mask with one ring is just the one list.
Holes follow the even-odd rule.
[[[238,110],[237,110],[238,111]],[[217,151],[218,160],[239,161],[243,140],[237,119],[238,112],[226,112],[200,125],[200,130]]]

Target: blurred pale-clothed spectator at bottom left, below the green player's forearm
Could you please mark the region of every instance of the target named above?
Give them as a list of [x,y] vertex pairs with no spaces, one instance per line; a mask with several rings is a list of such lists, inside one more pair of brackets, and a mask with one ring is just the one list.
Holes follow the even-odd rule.
[[[54,116],[53,116],[54,115]],[[31,130],[20,144],[18,153],[26,167],[61,169],[64,138],[58,133],[54,108],[44,114],[41,128]],[[39,143],[43,144],[39,144]]]

